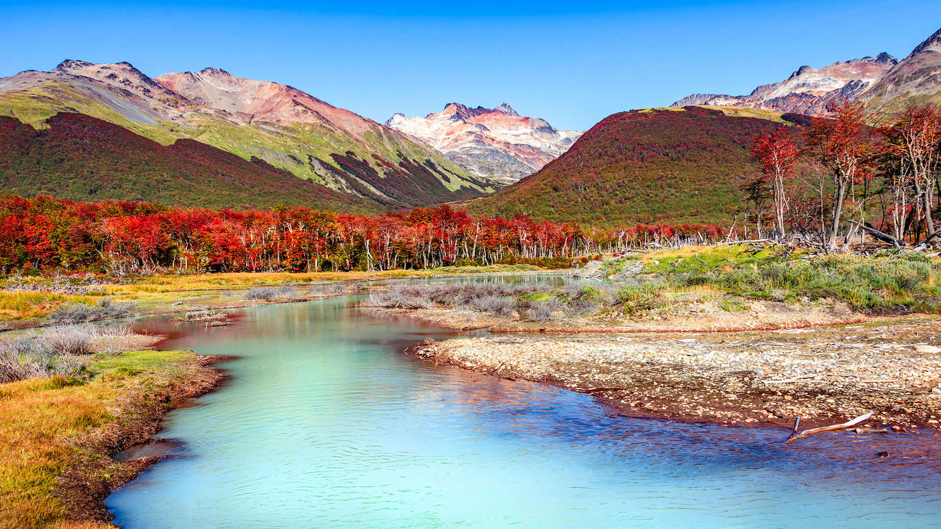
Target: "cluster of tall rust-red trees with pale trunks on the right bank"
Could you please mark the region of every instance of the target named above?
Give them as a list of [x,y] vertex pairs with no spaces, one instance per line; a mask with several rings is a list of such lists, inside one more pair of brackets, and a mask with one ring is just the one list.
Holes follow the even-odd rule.
[[937,231],[941,109],[910,104],[894,115],[840,100],[828,115],[756,136],[759,178],[744,186],[751,216],[778,240],[790,234],[834,249],[864,232],[898,246]]

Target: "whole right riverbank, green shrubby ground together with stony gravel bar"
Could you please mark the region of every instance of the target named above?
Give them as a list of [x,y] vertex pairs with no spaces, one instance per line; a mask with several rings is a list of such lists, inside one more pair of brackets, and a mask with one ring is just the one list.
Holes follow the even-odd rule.
[[[591,268],[591,270],[589,270]],[[592,393],[620,413],[720,425],[941,420],[941,262],[717,246],[615,256],[562,285],[416,285],[360,305],[522,334],[423,357]],[[594,271],[592,271],[594,270]]]

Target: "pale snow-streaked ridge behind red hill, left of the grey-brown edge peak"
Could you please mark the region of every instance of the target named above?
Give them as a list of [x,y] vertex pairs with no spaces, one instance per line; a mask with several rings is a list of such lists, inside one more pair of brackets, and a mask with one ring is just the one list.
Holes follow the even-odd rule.
[[673,106],[691,104],[750,106],[782,113],[815,115],[838,98],[858,96],[872,87],[898,61],[886,53],[835,62],[821,69],[800,67],[780,83],[762,85],[748,95],[693,94]]

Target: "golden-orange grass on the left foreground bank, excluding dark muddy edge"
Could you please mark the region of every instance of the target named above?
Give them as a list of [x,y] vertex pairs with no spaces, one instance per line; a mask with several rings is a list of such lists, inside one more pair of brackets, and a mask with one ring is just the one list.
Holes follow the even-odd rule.
[[137,351],[98,358],[88,382],[53,377],[0,384],[0,529],[108,527],[74,522],[54,492],[83,449],[71,441],[120,421],[129,392],[153,393],[186,376],[193,354]]

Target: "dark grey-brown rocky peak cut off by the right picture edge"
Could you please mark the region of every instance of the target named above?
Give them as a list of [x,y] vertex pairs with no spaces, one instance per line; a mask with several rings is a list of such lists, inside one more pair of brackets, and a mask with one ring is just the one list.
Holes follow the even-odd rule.
[[899,107],[905,101],[941,104],[941,29],[917,45],[909,56],[885,73],[863,99]]

